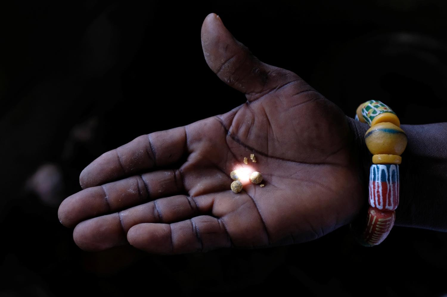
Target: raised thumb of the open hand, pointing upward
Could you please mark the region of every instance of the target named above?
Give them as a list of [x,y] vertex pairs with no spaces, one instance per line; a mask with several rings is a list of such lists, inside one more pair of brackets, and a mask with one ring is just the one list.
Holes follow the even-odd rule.
[[302,82],[291,71],[259,61],[232,36],[215,13],[203,21],[202,49],[211,70],[226,84],[243,92],[249,101],[285,84]]

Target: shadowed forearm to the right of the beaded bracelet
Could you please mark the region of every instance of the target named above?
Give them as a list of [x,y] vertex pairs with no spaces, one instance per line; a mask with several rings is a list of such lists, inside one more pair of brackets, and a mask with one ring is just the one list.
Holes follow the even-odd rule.
[[401,201],[396,226],[447,230],[447,123],[402,125]]

